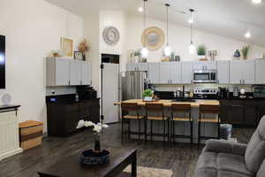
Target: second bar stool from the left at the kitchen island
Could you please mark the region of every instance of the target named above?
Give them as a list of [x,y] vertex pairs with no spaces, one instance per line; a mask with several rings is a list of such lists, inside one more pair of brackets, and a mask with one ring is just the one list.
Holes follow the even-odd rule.
[[[163,104],[147,103],[146,104],[146,123],[145,123],[145,141],[147,142],[147,136],[150,136],[150,140],[153,141],[153,135],[163,136],[163,142],[165,142],[165,136],[170,141],[170,119],[164,116]],[[149,113],[160,113],[162,116],[153,116]],[[150,134],[147,134],[147,121],[150,120]],[[153,134],[153,121],[163,121],[163,134]],[[168,132],[166,133],[166,121],[168,122]]]

